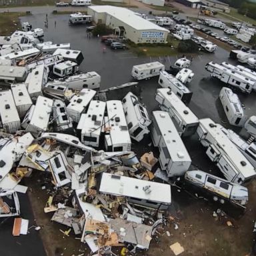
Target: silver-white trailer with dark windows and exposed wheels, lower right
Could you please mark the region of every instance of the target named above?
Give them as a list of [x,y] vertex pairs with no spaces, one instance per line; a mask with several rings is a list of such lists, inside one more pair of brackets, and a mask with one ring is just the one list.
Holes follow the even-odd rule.
[[248,202],[248,190],[246,187],[221,179],[204,171],[187,171],[185,181],[204,190],[213,201],[224,204],[231,202],[245,207]]

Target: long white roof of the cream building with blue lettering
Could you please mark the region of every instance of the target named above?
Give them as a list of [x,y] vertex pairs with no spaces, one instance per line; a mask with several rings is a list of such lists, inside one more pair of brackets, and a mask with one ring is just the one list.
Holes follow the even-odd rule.
[[88,8],[97,13],[107,13],[137,30],[155,29],[169,33],[168,29],[159,27],[151,21],[147,21],[147,19],[143,19],[142,17],[136,15],[133,11],[123,7],[115,7],[110,5],[93,5]]

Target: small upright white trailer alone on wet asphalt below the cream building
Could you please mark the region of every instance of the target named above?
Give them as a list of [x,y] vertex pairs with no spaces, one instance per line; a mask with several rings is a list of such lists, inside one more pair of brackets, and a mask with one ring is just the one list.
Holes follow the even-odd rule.
[[156,77],[163,70],[165,70],[165,65],[159,61],[144,63],[133,66],[131,76],[137,80],[149,79],[150,77]]

